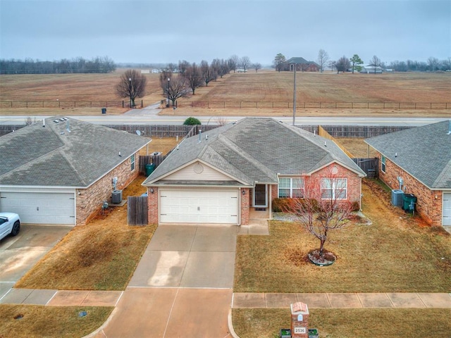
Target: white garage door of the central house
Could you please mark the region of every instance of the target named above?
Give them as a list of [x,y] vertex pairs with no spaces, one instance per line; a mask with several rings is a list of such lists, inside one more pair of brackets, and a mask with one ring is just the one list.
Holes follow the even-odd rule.
[[238,224],[238,190],[160,190],[160,222]]

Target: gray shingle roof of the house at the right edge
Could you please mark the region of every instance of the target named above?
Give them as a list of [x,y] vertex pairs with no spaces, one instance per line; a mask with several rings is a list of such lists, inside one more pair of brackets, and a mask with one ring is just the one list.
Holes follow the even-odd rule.
[[[365,142],[430,189],[451,189],[451,134],[445,120]],[[396,156],[395,156],[396,155]]]

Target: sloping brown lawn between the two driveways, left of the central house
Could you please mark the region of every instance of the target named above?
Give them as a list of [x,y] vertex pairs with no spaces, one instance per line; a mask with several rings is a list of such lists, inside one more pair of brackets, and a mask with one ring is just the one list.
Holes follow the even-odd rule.
[[[140,196],[145,177],[123,190]],[[156,225],[127,225],[127,204],[109,208],[85,226],[74,227],[15,285],[28,289],[123,290]]]

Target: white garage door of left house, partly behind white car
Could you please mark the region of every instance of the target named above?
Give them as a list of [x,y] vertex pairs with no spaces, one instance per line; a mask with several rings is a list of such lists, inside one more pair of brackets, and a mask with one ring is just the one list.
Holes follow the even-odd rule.
[[1,192],[0,211],[18,213],[22,223],[75,224],[72,193]]

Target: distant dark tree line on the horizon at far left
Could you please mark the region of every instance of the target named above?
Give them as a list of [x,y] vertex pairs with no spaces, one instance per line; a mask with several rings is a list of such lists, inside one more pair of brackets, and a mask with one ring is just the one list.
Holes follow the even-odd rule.
[[70,74],[70,73],[111,73],[116,64],[108,56],[92,58],[63,58],[60,61],[0,60],[0,74]]

